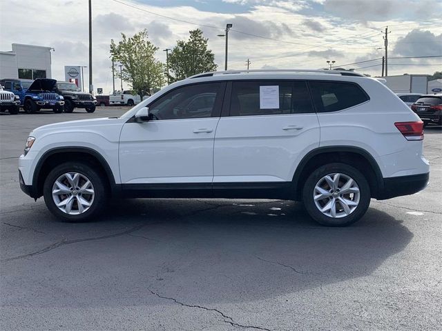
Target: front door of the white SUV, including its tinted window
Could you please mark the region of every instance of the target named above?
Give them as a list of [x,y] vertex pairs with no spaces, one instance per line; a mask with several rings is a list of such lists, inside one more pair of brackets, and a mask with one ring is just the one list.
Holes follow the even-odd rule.
[[208,183],[225,83],[196,83],[148,105],[153,119],[122,128],[122,184]]

